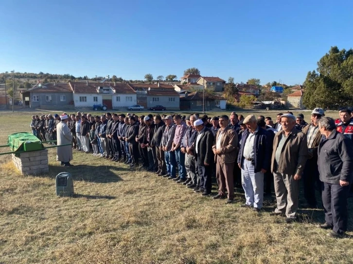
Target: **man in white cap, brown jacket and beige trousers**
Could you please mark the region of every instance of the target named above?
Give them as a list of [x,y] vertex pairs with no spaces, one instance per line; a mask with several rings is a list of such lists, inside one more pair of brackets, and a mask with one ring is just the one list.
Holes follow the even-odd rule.
[[273,140],[271,162],[277,199],[275,214],[285,213],[287,223],[297,218],[299,180],[308,156],[306,136],[295,124],[294,115],[281,115],[282,130]]

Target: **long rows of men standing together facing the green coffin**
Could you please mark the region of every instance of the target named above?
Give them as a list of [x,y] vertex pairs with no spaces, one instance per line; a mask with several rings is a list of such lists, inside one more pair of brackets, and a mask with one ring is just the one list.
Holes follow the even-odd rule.
[[[291,112],[278,114],[276,123],[271,117],[244,118],[234,112],[213,118],[78,112],[61,118],[33,116],[31,127],[41,140],[55,140],[63,119],[72,135],[66,137],[72,138],[72,149],[145,169],[202,196],[212,194],[215,176],[218,193],[213,198],[227,203],[233,203],[234,183],[239,184],[246,198],[242,207],[255,212],[274,188],[273,214],[285,216],[287,223],[298,219],[303,178],[306,207],[317,208],[316,190],[321,192],[326,222],[319,227],[331,229],[332,237],[343,237],[353,180],[352,114],[352,109],[342,108],[335,120],[316,108],[307,124],[302,114]],[[59,161],[70,165],[70,159]]]

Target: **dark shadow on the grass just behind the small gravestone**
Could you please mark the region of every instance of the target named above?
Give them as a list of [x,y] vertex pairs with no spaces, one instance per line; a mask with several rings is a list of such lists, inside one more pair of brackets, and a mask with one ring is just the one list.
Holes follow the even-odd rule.
[[55,179],[56,175],[61,172],[70,173],[74,181],[88,181],[97,183],[123,181],[123,179],[119,175],[126,173],[124,168],[109,165],[75,165],[71,167],[49,165],[49,174],[41,174],[34,176]]

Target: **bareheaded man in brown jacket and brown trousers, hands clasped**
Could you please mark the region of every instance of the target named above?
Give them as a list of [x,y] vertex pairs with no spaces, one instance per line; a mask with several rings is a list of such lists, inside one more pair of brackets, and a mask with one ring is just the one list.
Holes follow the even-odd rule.
[[234,200],[233,170],[237,157],[238,135],[228,124],[228,116],[221,115],[219,117],[219,125],[221,128],[216,134],[215,145],[212,146],[218,183],[218,194],[213,198],[226,198],[225,191],[227,188],[227,203],[232,203]]

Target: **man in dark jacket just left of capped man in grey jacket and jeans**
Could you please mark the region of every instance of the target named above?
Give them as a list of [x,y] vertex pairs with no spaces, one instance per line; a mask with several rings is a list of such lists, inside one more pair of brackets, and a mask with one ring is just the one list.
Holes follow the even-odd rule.
[[155,132],[153,135],[152,139],[152,146],[156,148],[156,151],[153,152],[156,154],[154,156],[154,160],[158,161],[158,171],[156,172],[159,176],[165,175],[166,173],[166,165],[165,165],[165,159],[164,159],[164,151],[162,149],[162,134],[165,129],[165,124],[162,121],[162,117],[160,115],[156,115],[154,117],[155,121]]

